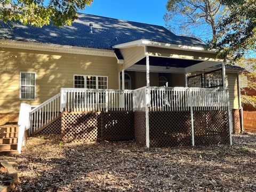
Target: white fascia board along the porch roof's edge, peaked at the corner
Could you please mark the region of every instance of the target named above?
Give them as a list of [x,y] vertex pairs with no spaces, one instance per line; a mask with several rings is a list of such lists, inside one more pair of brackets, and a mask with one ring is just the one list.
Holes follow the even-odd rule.
[[123,49],[123,48],[134,47],[134,46],[151,46],[151,47],[159,47],[164,49],[195,51],[195,52],[203,52],[203,53],[216,53],[218,51],[217,49],[206,49],[205,47],[202,47],[202,46],[176,45],[171,43],[153,42],[153,41],[148,41],[146,39],[140,39],[137,41],[114,45],[113,48]]

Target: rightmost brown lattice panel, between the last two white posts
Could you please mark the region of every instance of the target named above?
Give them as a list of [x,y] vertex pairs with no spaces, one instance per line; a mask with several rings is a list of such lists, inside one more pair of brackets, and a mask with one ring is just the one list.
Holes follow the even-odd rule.
[[195,145],[228,144],[228,111],[194,111],[194,131]]

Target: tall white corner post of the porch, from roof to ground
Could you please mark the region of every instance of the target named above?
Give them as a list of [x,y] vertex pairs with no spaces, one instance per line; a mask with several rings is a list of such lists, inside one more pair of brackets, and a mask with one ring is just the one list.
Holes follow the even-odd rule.
[[146,91],[146,146],[149,147],[149,105],[150,105],[150,82],[149,82],[149,56],[146,56],[146,78],[147,78],[147,87]]

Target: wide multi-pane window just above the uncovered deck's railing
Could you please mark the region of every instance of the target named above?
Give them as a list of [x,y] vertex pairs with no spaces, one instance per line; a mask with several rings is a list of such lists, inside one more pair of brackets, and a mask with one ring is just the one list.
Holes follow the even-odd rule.
[[75,75],[74,87],[82,89],[108,89],[108,77]]

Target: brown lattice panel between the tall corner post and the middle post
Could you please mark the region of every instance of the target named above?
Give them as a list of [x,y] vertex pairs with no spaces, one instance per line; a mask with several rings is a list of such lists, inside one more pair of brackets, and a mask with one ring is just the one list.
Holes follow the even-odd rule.
[[150,147],[191,145],[191,118],[189,111],[150,111]]

